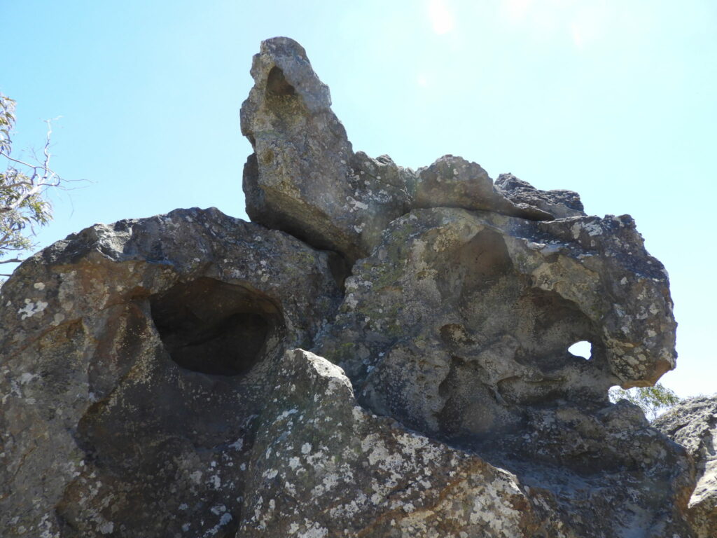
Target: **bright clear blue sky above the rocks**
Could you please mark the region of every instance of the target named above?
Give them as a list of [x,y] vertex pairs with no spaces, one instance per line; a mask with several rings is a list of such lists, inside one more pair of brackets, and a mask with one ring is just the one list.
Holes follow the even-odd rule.
[[[714,0],[0,0],[0,91],[16,150],[55,122],[41,246],[176,207],[247,218],[239,108],[262,39],[286,35],[331,88],[354,150],[443,154],[632,214],[668,268],[687,396],[717,391]],[[698,204],[702,200],[704,204]]]

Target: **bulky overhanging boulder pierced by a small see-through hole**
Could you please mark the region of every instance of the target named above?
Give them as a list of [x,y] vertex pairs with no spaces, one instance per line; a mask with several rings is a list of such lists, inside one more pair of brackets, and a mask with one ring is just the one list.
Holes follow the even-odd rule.
[[[401,346],[433,357],[429,370],[433,346],[441,349],[440,378],[450,355],[485,354],[491,390],[521,378],[534,383],[524,387],[529,398],[604,400],[612,384],[651,384],[675,367],[668,278],[630,217],[530,222],[416,209],[392,222],[374,255],[354,266],[346,292],[320,351],[360,385],[369,369],[375,377],[377,364],[391,362],[389,349]],[[343,341],[353,344],[341,348]],[[590,361],[567,353],[576,341],[592,343]],[[400,362],[405,380],[404,362],[421,361]],[[416,387],[435,397],[437,389]],[[516,397],[523,398],[522,390]],[[420,415],[432,421],[429,412]]]

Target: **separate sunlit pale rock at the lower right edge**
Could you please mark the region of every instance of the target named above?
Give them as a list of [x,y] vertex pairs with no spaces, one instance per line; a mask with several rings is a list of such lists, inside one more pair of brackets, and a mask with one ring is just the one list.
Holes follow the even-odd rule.
[[695,460],[697,487],[688,516],[698,538],[717,536],[717,396],[676,405],[655,420],[655,428],[687,448]]

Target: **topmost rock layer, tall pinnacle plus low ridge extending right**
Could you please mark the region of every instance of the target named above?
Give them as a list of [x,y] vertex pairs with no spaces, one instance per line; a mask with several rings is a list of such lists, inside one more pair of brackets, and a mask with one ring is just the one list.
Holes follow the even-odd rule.
[[328,88],[303,47],[286,37],[262,42],[255,85],[242,105],[242,133],[254,153],[244,166],[247,214],[349,263],[364,258],[386,225],[411,207],[490,209],[531,220],[550,212],[514,204],[485,171],[445,156],[418,173],[389,156],[353,153],[331,110]]

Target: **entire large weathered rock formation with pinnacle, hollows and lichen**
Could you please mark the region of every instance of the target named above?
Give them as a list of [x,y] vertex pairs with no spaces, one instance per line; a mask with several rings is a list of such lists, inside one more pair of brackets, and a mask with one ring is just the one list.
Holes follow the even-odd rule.
[[291,39],[252,76],[255,222],[95,225],[1,288],[2,535],[692,536],[685,449],[607,400],[675,367],[632,219],[354,153]]

